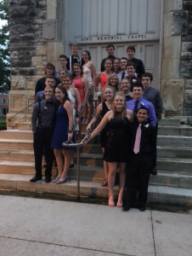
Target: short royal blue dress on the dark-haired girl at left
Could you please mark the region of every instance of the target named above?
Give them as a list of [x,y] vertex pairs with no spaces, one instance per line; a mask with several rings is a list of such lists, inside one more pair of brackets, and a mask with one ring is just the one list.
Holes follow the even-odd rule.
[[57,120],[54,127],[54,135],[52,137],[51,148],[73,150],[73,148],[64,147],[62,145],[62,143],[68,139],[67,129],[69,127],[69,118],[64,106],[62,105],[55,114]]

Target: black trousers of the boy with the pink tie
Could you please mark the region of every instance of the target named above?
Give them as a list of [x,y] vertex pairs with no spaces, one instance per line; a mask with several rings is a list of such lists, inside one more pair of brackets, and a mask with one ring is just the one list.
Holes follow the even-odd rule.
[[152,167],[151,154],[131,154],[127,165],[127,202],[133,204],[139,190],[138,203],[144,205],[147,201],[150,170]]

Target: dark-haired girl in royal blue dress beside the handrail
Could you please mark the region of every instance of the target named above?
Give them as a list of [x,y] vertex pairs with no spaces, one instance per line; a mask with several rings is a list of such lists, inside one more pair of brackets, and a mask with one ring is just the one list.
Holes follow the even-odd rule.
[[[64,147],[62,143],[68,137],[73,136],[73,108],[67,91],[62,85],[56,87],[55,97],[57,99],[58,110],[56,111],[57,120],[54,127],[51,148],[54,148],[59,174],[53,180],[53,183],[60,184],[67,181],[67,172],[71,163],[71,150],[73,148]],[[63,162],[62,154],[64,155],[65,162]]]

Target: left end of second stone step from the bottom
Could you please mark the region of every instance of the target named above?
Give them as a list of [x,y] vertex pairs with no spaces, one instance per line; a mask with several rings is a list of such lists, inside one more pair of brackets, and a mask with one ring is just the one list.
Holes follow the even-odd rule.
[[[44,175],[45,167],[42,167],[42,175]],[[0,173],[35,175],[35,163],[19,162],[19,161],[0,161]],[[52,168],[52,176],[57,174],[57,168]]]

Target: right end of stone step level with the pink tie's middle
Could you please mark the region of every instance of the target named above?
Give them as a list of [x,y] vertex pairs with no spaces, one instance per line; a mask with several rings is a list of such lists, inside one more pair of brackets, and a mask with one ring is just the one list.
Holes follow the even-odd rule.
[[170,147],[192,147],[192,137],[158,135],[157,145]]

